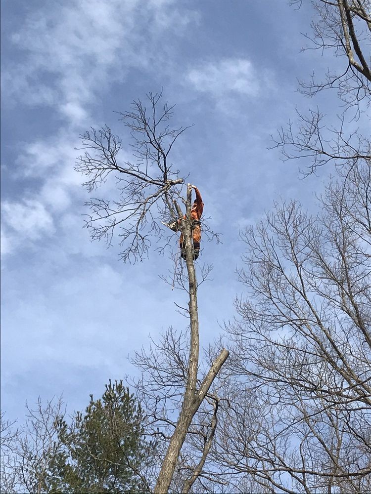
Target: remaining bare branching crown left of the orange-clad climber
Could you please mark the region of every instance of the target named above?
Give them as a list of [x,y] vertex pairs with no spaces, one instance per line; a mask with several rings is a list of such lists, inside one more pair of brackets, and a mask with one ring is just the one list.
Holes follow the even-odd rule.
[[81,135],[82,150],[75,169],[85,175],[84,185],[93,192],[113,173],[116,199],[92,198],[86,226],[93,240],[111,245],[117,232],[124,261],[147,255],[153,241],[164,237],[160,219],[176,219],[173,201],[179,200],[185,178],[169,162],[177,138],[188,127],[170,128],[174,106],[161,105],[162,92],[149,93],[150,109],[135,101],[132,111],[119,113],[132,136],[135,163],[120,161],[122,140],[108,126]]

